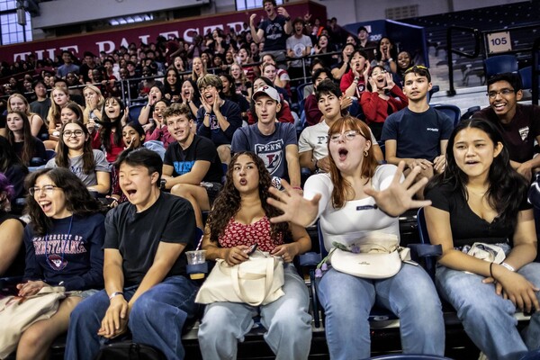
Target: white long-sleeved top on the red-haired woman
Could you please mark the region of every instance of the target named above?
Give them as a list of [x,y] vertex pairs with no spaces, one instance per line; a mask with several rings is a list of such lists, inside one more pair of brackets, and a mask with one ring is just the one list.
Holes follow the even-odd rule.
[[[373,188],[386,189],[392,183],[396,170],[397,167],[390,164],[377,166],[372,178]],[[392,234],[400,238],[398,218],[392,218],[380,209],[374,209],[373,197],[348,201],[343,208],[334,209],[332,206],[333,189],[334,184],[329,174],[311,175],[304,185],[304,198],[312,199],[316,193],[321,194],[318,217],[324,247],[328,251],[333,247],[334,241],[346,246],[356,244],[357,239],[364,238],[365,233],[371,231]]]

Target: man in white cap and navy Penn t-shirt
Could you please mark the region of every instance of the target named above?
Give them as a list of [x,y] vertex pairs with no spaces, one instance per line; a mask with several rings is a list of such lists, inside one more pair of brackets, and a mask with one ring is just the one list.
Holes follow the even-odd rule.
[[293,187],[300,187],[296,130],[292,123],[275,121],[275,114],[281,109],[279,93],[272,86],[261,86],[253,94],[253,100],[258,121],[235,132],[232,152],[255,152],[265,162],[270,175],[288,179]]

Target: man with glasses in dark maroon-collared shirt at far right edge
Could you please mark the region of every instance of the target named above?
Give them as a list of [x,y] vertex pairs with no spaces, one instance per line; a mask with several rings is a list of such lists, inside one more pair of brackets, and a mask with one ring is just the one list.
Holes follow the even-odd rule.
[[534,169],[540,167],[535,156],[535,139],[540,142],[540,106],[518,103],[523,97],[518,74],[505,73],[488,79],[490,106],[476,112],[474,117],[497,125],[509,148],[510,164],[531,179]]

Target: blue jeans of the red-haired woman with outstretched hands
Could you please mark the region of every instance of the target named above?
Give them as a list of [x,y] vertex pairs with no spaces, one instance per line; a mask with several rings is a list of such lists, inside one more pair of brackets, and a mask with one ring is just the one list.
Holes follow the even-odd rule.
[[435,285],[419,266],[403,264],[383,280],[364,279],[330,268],[318,283],[326,312],[325,330],[332,360],[371,355],[369,313],[376,303],[400,318],[405,354],[443,356],[445,322]]

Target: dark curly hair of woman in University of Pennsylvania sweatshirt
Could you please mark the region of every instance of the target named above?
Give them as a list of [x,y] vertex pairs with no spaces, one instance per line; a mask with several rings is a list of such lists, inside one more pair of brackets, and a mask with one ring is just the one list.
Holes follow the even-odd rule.
[[[62,189],[66,195],[67,210],[72,211],[74,215],[87,216],[104,211],[101,202],[94,199],[85,184],[64,167],[44,168],[31,173],[24,181],[24,188],[28,191],[41,175],[49,176],[52,183]],[[30,193],[26,195],[26,211],[30,215],[34,232],[37,235],[45,235],[52,226],[52,221],[41,210],[40,204]]]

